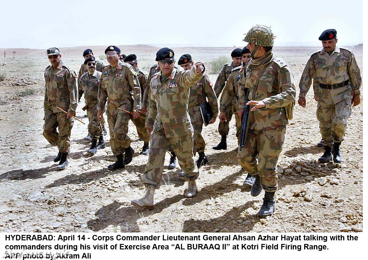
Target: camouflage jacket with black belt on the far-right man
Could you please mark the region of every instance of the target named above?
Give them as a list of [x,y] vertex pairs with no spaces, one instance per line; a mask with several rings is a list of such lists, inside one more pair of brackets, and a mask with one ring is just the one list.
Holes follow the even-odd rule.
[[351,50],[335,47],[331,56],[325,49],[318,51],[309,58],[300,78],[300,97],[305,97],[311,86],[312,79],[326,85],[349,81],[350,84],[337,89],[314,88],[317,101],[327,101],[331,96],[334,103],[351,99],[352,93],[359,94],[362,78],[360,69]]

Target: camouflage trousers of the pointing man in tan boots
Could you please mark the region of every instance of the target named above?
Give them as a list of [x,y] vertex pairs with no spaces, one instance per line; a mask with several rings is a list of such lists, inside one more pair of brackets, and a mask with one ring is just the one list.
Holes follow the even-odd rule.
[[169,145],[173,147],[180,168],[185,173],[184,178],[187,181],[198,178],[199,171],[193,155],[192,135],[166,138],[165,132],[159,130],[150,137],[148,162],[143,175],[145,185],[152,186],[154,189],[160,188],[165,154]]

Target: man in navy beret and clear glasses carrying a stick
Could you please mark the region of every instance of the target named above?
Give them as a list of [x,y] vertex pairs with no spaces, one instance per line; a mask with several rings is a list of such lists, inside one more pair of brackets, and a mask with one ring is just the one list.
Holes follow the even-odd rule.
[[[125,168],[132,161],[134,150],[130,147],[128,123],[131,114],[118,110],[118,108],[132,111],[133,117],[138,117],[141,101],[141,87],[137,72],[128,64],[120,61],[120,49],[109,46],[105,50],[107,62],[110,65],[103,68],[102,81],[98,92],[98,117],[102,119],[102,110],[107,100],[107,123],[110,130],[110,146],[116,155],[116,163],[107,168],[116,170]],[[107,99],[108,97],[108,99]],[[125,159],[123,160],[123,153]]]

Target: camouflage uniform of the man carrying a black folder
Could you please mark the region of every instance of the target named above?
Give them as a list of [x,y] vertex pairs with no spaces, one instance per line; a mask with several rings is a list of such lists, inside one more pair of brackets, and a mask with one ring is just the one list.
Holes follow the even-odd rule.
[[210,82],[206,74],[203,75],[200,81],[191,86],[189,93],[188,111],[190,115],[191,124],[194,129],[193,135],[193,154],[196,152],[204,152],[206,143],[201,135],[203,127],[203,119],[200,107],[206,103],[206,97],[212,108],[213,117],[216,118],[219,112],[217,104],[217,98],[215,91],[212,89],[212,83]]

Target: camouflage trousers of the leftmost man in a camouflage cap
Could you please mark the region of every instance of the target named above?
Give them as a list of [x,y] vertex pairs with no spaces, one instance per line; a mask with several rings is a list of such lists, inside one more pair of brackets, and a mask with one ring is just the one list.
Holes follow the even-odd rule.
[[[74,124],[74,118],[67,119],[63,112],[53,113],[52,106],[45,108],[45,123],[43,124],[43,136],[53,146],[57,146],[59,152],[70,152],[70,133]],[[59,128],[59,133],[56,131]]]

